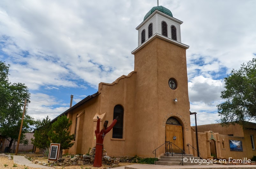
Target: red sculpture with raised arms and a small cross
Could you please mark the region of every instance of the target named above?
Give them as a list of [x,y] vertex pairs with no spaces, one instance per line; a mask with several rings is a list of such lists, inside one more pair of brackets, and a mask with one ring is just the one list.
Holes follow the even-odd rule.
[[108,121],[106,120],[103,125],[103,129],[99,132],[99,123],[100,118],[97,116],[97,128],[95,130],[96,135],[96,150],[95,150],[95,157],[94,157],[94,167],[101,167],[102,166],[102,148],[103,148],[103,139],[116,124],[118,116],[113,120],[112,124],[107,127]]

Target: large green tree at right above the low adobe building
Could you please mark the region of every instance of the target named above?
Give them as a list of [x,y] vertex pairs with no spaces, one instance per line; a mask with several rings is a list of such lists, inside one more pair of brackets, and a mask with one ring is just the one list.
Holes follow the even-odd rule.
[[225,90],[221,98],[225,101],[217,105],[223,126],[256,119],[256,59],[242,64],[239,70],[232,70],[224,78]]

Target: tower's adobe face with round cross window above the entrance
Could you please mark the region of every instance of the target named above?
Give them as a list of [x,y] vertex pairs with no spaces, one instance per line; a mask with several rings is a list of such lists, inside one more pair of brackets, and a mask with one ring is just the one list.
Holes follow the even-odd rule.
[[[174,78],[177,88],[172,90],[168,81]],[[157,91],[158,91],[158,143],[165,142],[164,122],[175,117],[183,127],[183,147],[192,143],[190,134],[190,105],[187,86],[186,49],[157,38]],[[177,98],[178,102],[173,99]],[[157,147],[155,147],[157,148]],[[162,148],[164,149],[164,148]]]

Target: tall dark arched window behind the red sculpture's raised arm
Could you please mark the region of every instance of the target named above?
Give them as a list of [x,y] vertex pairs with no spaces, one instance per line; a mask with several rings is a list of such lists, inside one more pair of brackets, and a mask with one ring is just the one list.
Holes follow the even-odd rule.
[[114,117],[118,116],[117,122],[113,127],[113,135],[112,138],[122,139],[123,138],[123,117],[124,117],[124,109],[121,105],[116,105],[114,107]]

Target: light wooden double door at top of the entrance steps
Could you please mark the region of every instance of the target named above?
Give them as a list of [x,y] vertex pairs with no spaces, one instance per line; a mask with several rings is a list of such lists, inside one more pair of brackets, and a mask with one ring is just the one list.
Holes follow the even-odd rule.
[[[173,137],[176,137],[176,139],[173,139]],[[180,149],[184,151],[182,125],[165,124],[165,141],[172,142],[173,144],[177,145]],[[182,151],[173,144],[172,144],[171,152],[182,153]],[[169,145],[165,148],[165,152],[170,153]]]

